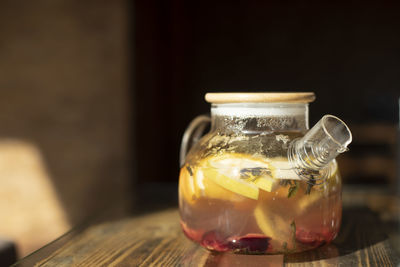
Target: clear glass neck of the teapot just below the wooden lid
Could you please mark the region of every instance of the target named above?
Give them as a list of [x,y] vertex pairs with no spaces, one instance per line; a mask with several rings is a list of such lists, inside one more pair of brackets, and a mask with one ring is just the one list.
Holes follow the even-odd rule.
[[211,106],[211,130],[226,134],[260,134],[308,130],[308,104],[229,103]]

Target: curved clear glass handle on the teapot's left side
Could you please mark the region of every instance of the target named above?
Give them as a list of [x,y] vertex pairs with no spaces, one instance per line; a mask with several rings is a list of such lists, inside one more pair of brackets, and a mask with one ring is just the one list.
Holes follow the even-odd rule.
[[179,153],[179,164],[182,167],[185,164],[186,154],[189,149],[196,144],[204,134],[204,130],[211,119],[207,115],[200,115],[194,118],[186,128],[182,137],[181,150]]

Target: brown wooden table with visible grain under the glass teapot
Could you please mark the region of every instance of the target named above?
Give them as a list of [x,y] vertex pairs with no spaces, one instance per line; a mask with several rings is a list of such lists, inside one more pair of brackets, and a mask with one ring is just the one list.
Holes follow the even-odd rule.
[[343,223],[330,245],[292,255],[211,253],[189,241],[177,208],[73,230],[16,266],[397,266],[398,198],[344,192]]

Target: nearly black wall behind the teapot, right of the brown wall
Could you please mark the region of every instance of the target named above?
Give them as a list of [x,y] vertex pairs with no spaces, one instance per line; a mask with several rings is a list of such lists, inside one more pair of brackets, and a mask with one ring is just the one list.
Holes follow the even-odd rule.
[[137,162],[177,181],[184,128],[208,91],[314,91],[311,123],[398,120],[400,4],[137,1]]

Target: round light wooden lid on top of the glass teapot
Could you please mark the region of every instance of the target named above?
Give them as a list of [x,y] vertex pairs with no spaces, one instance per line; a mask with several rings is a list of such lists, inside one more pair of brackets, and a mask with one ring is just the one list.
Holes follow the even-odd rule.
[[292,93],[207,93],[209,103],[310,103],[315,100],[313,92]]

